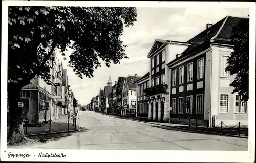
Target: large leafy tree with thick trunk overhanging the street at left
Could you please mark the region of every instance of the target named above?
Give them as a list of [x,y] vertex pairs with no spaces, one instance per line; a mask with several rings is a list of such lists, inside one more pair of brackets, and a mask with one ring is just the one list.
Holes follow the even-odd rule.
[[72,48],[69,66],[80,78],[93,77],[99,58],[108,67],[128,58],[120,36],[137,21],[136,9],[129,7],[10,6],[8,17],[8,144],[31,141],[24,135],[20,91],[36,76],[52,84],[55,49],[65,56]]

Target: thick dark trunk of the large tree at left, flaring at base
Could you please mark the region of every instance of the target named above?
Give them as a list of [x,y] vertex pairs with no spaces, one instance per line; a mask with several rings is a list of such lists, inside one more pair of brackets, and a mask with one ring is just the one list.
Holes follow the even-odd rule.
[[15,83],[8,83],[8,102],[10,113],[10,129],[7,137],[7,144],[24,144],[34,142],[27,138],[23,129],[22,107],[18,107],[20,100],[20,91],[22,87]]

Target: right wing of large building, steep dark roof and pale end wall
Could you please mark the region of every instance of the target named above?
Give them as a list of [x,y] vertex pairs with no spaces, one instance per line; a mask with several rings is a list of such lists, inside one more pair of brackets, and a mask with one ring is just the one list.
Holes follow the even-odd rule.
[[191,44],[181,55],[168,63],[172,120],[186,122],[190,102],[190,118],[202,124],[248,124],[248,106],[232,94],[229,84],[235,76],[225,72],[227,58],[233,51],[232,28],[242,18],[227,16],[187,41]]

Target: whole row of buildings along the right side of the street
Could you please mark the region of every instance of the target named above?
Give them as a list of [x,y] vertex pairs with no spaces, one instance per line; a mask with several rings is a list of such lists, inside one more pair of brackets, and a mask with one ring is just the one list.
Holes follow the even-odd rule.
[[[248,125],[248,105],[225,71],[233,51],[232,29],[243,19],[227,16],[187,42],[156,39],[147,54],[148,72],[119,77],[92,99],[93,111],[154,121],[217,126]],[[190,103],[190,108],[185,103]],[[190,111],[190,112],[189,112]]]

